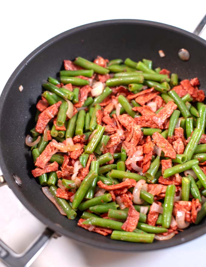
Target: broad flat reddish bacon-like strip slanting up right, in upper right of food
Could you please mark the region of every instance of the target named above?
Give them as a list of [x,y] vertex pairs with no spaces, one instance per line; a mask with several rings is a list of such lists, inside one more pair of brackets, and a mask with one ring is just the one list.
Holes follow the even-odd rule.
[[164,107],[163,109],[161,109],[157,115],[155,115],[152,120],[154,121],[154,123],[156,123],[159,127],[161,127],[161,125],[165,122],[165,120],[167,118],[169,118],[173,111],[176,110],[178,106],[173,102],[173,101],[169,101]]

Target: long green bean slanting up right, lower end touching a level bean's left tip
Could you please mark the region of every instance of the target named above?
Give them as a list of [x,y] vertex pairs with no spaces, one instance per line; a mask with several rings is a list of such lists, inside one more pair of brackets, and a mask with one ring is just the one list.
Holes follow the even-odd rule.
[[88,188],[90,187],[92,181],[96,177],[96,173],[93,171],[90,171],[87,176],[84,178],[84,180],[81,182],[80,187],[75,193],[73,202],[72,202],[72,208],[78,208],[79,204],[83,200]]

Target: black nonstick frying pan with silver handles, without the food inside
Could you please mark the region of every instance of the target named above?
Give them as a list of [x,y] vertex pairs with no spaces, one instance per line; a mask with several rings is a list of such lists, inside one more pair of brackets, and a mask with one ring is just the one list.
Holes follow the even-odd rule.
[[[199,34],[206,17],[198,25]],[[63,59],[77,56],[92,60],[97,55],[114,59],[148,58],[154,67],[164,67],[178,73],[180,79],[198,77],[205,90],[206,41],[193,33],[157,22],[143,20],[108,20],[83,25],[55,36],[35,49],[14,71],[0,98],[0,183],[12,189],[25,207],[48,228],[23,254],[17,255],[0,240],[0,259],[8,266],[29,266],[55,233],[81,243],[116,251],[147,251],[182,244],[206,233],[205,220],[191,226],[168,241],[151,244],[125,243],[110,237],[85,231],[77,226],[78,218],[68,220],[42,193],[32,177],[31,152],[25,146],[25,136],[34,127],[35,103],[42,92],[42,81],[55,77],[63,69]],[[181,61],[177,52],[187,49],[191,57]],[[160,58],[163,49],[166,57]],[[18,87],[24,90],[20,92]],[[205,90],[206,92],[206,90]],[[17,176],[16,176],[17,175]],[[18,178],[19,177],[19,178]]]

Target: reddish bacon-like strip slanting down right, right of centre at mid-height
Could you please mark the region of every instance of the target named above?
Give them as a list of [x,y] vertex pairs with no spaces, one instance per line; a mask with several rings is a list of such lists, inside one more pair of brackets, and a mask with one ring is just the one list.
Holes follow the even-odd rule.
[[154,139],[154,143],[162,149],[165,157],[170,157],[172,159],[176,158],[176,152],[174,151],[174,148],[160,133],[155,132],[152,135],[152,138]]

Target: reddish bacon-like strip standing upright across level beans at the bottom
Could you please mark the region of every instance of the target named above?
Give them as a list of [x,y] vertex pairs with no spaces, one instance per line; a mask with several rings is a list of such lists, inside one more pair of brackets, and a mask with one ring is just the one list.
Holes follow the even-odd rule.
[[135,210],[134,206],[129,205],[128,216],[121,228],[127,232],[133,232],[139,221],[139,212]]

